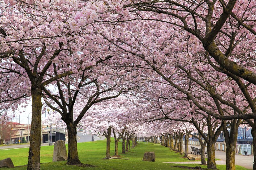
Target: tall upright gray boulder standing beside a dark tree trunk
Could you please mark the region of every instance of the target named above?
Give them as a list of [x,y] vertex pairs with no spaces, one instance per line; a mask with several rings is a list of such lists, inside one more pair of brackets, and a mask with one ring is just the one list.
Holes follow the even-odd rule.
[[54,144],[53,158],[52,161],[63,161],[67,160],[67,149],[64,140],[57,140]]

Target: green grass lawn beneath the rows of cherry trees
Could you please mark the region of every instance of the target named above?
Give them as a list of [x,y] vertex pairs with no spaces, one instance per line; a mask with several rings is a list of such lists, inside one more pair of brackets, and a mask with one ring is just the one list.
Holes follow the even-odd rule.
[[[106,154],[106,140],[95,141],[95,142],[84,142],[78,143],[78,153],[79,159],[84,164],[90,164],[94,167],[78,167],[78,166],[68,166],[65,165],[66,161],[52,162],[53,147],[54,146],[42,146],[41,147],[41,169],[42,170],[54,170],[54,169],[67,169],[67,170],[79,170],[79,169],[111,169],[111,170],[128,170],[128,169],[184,169],[177,168],[173,166],[202,166],[198,164],[167,164],[163,162],[181,162],[188,161],[188,159],[181,158],[183,155],[171,151],[169,148],[161,146],[159,144],[152,143],[139,143],[135,148],[125,154],[122,154],[122,144],[119,143],[119,155],[122,158],[127,158],[128,160],[122,159],[111,159],[105,160],[102,159]],[[114,154],[114,142],[111,141],[110,152]],[[155,162],[146,162],[142,161],[144,152],[155,152],[156,161]],[[28,162],[28,148],[20,149],[11,149],[11,150],[0,150],[0,160],[10,157],[13,161],[14,166],[18,166],[12,169],[27,169],[27,166],[24,166]],[[219,169],[226,169],[226,166],[218,165]],[[0,168],[0,169],[9,169],[9,168]],[[236,169],[243,170],[241,166],[236,166]]]

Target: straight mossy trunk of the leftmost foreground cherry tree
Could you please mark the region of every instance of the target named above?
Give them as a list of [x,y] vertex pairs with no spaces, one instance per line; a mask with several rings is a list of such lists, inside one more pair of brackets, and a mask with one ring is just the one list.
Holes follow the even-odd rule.
[[32,120],[27,170],[40,169],[42,89],[31,87]]

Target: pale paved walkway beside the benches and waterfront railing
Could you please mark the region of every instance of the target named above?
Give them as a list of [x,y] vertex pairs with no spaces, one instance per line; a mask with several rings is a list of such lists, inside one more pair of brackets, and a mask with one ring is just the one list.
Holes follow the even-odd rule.
[[[194,146],[194,147],[200,148],[200,146],[197,146],[197,145],[188,145],[189,153],[191,153],[190,146]],[[183,145],[183,152],[184,152],[184,150],[185,150],[185,145]],[[205,151],[207,151],[207,148],[205,148]],[[215,151],[215,158],[220,159],[220,160],[226,162],[226,152]],[[244,156],[244,155],[236,154],[235,159],[236,159],[235,160],[236,161],[236,165],[243,166],[243,167],[245,167],[247,169],[252,169],[252,166],[253,166],[253,155]],[[218,164],[217,161],[216,161],[216,164]],[[223,164],[219,164],[219,165],[223,165]],[[226,164],[224,164],[224,165],[226,165]]]

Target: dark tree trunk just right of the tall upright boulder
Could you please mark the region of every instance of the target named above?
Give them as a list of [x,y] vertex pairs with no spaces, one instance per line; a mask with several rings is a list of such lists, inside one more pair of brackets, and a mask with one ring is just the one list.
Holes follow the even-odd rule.
[[72,122],[67,122],[68,129],[68,160],[67,165],[81,165],[77,152],[76,126]]

